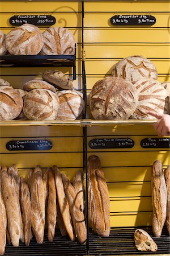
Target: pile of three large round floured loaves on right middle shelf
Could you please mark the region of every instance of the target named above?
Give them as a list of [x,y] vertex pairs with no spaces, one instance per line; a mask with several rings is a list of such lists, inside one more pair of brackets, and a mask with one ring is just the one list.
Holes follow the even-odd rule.
[[[95,119],[153,119],[147,110],[169,113],[168,92],[155,65],[143,56],[130,56],[113,66],[112,76],[97,81],[90,93]],[[167,86],[167,84],[165,85]]]

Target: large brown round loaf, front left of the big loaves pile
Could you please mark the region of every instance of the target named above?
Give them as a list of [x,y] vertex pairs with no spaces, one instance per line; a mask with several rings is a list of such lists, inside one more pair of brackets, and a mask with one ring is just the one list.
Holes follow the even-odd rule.
[[118,77],[97,81],[90,93],[90,109],[95,119],[128,119],[137,102],[134,85]]

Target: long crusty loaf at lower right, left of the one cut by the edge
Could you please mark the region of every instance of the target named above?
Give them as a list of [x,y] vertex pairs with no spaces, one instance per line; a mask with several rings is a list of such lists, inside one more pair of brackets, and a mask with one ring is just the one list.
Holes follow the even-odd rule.
[[152,165],[151,192],[153,208],[152,229],[154,236],[160,237],[167,216],[167,187],[160,160],[156,160]]

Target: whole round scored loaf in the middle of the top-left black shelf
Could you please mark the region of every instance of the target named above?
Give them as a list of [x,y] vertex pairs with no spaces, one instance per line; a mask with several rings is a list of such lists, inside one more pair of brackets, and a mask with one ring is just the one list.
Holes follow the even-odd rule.
[[28,23],[8,32],[5,42],[11,55],[37,55],[43,46],[41,31]]

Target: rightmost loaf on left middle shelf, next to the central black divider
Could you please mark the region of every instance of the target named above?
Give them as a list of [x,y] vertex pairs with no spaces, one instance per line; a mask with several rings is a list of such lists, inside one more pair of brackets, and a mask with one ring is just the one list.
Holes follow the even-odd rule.
[[61,90],[56,94],[59,98],[56,119],[66,121],[78,118],[84,108],[83,94],[75,90]]

